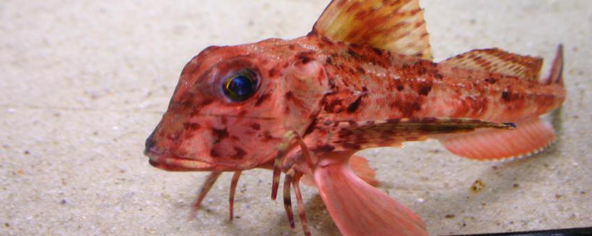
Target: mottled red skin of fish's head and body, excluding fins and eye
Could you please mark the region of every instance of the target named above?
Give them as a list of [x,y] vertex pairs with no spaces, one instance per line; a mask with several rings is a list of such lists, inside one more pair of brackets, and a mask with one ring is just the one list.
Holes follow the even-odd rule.
[[[258,74],[258,91],[247,101],[231,102],[221,93],[221,81],[244,68]],[[443,75],[446,69],[458,76]],[[317,89],[298,90],[294,85],[302,81],[293,77],[314,81]],[[269,167],[288,130],[298,130],[306,143],[322,140],[322,133],[309,135],[315,121],[515,122],[554,110],[565,96],[557,83],[451,68],[311,33],[199,53],[183,69],[169,109],[146,140],[146,153],[152,165],[176,171]],[[311,110],[314,104],[320,107]]]

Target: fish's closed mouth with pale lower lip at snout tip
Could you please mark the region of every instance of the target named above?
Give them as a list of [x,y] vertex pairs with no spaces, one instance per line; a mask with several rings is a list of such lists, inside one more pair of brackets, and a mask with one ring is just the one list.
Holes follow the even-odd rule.
[[208,171],[214,169],[215,166],[208,162],[167,155],[154,147],[144,150],[144,155],[150,158],[148,160],[150,165],[166,171]]

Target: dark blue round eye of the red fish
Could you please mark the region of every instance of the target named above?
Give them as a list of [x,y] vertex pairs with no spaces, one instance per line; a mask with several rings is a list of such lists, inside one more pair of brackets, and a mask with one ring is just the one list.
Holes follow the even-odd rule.
[[222,84],[222,90],[232,101],[247,100],[257,90],[257,75],[253,71],[245,70],[228,76]]

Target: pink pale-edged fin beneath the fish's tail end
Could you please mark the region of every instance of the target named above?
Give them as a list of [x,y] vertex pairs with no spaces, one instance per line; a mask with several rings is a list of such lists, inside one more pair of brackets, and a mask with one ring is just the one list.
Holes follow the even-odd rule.
[[516,124],[514,130],[481,130],[440,140],[456,155],[474,160],[520,158],[545,149],[555,138],[553,127],[538,118]]

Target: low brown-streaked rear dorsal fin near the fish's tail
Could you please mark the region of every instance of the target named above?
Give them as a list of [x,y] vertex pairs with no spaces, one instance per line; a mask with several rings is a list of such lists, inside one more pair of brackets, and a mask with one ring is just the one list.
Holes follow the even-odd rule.
[[537,81],[543,59],[521,56],[501,49],[476,49],[446,59],[442,65]]

